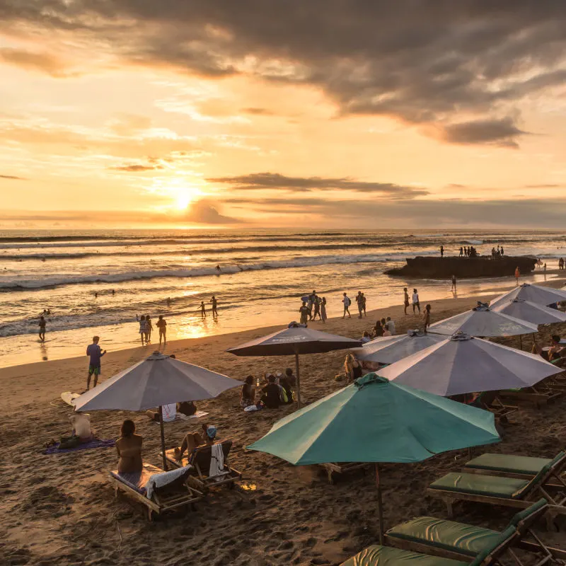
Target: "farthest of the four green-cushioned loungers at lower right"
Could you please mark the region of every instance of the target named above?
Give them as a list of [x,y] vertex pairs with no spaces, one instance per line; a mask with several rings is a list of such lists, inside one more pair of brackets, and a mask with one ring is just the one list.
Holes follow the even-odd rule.
[[532,458],[531,456],[486,453],[466,462],[463,471],[467,473],[500,475],[504,478],[530,480],[545,466],[549,465],[551,474],[548,477],[546,485],[552,487],[566,487],[564,478],[562,478],[562,472],[566,468],[566,460],[558,460],[553,463],[553,459],[550,458]]

